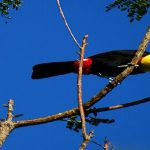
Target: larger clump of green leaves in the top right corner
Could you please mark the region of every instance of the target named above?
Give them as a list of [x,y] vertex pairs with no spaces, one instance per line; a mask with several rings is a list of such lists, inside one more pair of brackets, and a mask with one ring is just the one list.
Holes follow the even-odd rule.
[[121,11],[126,11],[130,22],[141,20],[150,8],[150,0],[115,0],[106,7],[106,11],[118,8]]

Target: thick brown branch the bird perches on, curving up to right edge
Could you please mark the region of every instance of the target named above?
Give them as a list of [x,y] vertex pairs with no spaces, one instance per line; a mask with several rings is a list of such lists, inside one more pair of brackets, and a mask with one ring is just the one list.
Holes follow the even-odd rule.
[[[139,46],[138,52],[136,53],[132,64],[136,64],[139,59],[141,58],[144,49],[146,48],[148,42],[150,40],[150,28],[148,28],[147,33],[144,36],[144,39],[142,41],[142,43]],[[107,93],[109,93],[114,87],[117,86],[118,82],[121,82],[129,73],[131,73],[131,71],[134,69],[134,66],[129,66],[127,69],[125,69],[125,71],[123,71],[120,75],[118,75],[115,80],[113,80],[112,83],[109,83],[101,92],[99,92],[96,96],[94,96],[93,98],[91,98],[89,101],[84,103],[84,108],[90,108],[91,106],[93,106],[95,103],[98,102],[99,99],[101,99],[102,97],[104,97]],[[121,80],[122,78],[122,80]],[[23,126],[31,126],[31,125],[37,125],[37,124],[42,124],[42,123],[46,123],[46,122],[52,122],[52,121],[56,121],[56,120],[60,120],[63,118],[67,118],[73,115],[77,115],[79,114],[79,109],[78,108],[73,108],[70,110],[67,110],[65,112],[59,113],[59,114],[55,114],[52,116],[47,116],[47,117],[42,117],[42,118],[37,118],[37,119],[32,119],[32,120],[22,120],[22,121],[17,121],[14,123],[15,127],[23,127]]]

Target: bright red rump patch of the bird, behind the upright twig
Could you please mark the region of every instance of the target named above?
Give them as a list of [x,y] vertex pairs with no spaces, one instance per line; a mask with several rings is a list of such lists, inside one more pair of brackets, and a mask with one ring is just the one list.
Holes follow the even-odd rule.
[[[79,62],[80,61],[75,61],[73,63],[73,66],[75,68],[75,72],[78,72]],[[92,59],[91,58],[83,59],[83,74],[90,74],[91,73],[91,66],[92,66]]]

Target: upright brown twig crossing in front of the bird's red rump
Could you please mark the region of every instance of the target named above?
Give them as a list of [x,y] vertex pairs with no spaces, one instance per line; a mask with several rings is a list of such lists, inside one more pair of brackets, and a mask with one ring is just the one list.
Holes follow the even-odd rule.
[[85,47],[87,45],[86,40],[88,38],[88,35],[85,35],[82,40],[82,47],[80,49],[80,62],[79,62],[79,71],[78,71],[78,77],[77,77],[77,91],[78,91],[78,106],[80,111],[80,117],[82,122],[82,135],[84,139],[87,139],[87,133],[86,133],[86,121],[85,121],[85,113],[82,103],[82,66],[83,66],[83,59],[84,59],[84,51]]

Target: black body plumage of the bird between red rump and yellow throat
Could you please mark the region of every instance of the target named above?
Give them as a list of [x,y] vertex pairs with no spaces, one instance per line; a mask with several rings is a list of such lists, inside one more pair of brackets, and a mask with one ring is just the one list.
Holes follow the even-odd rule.
[[[109,51],[91,56],[93,60],[91,72],[93,74],[101,73],[104,76],[114,77],[121,73],[125,67],[132,61],[137,50],[119,50]],[[150,54],[144,52],[143,56]],[[140,66],[135,68],[131,74],[143,73]]]

